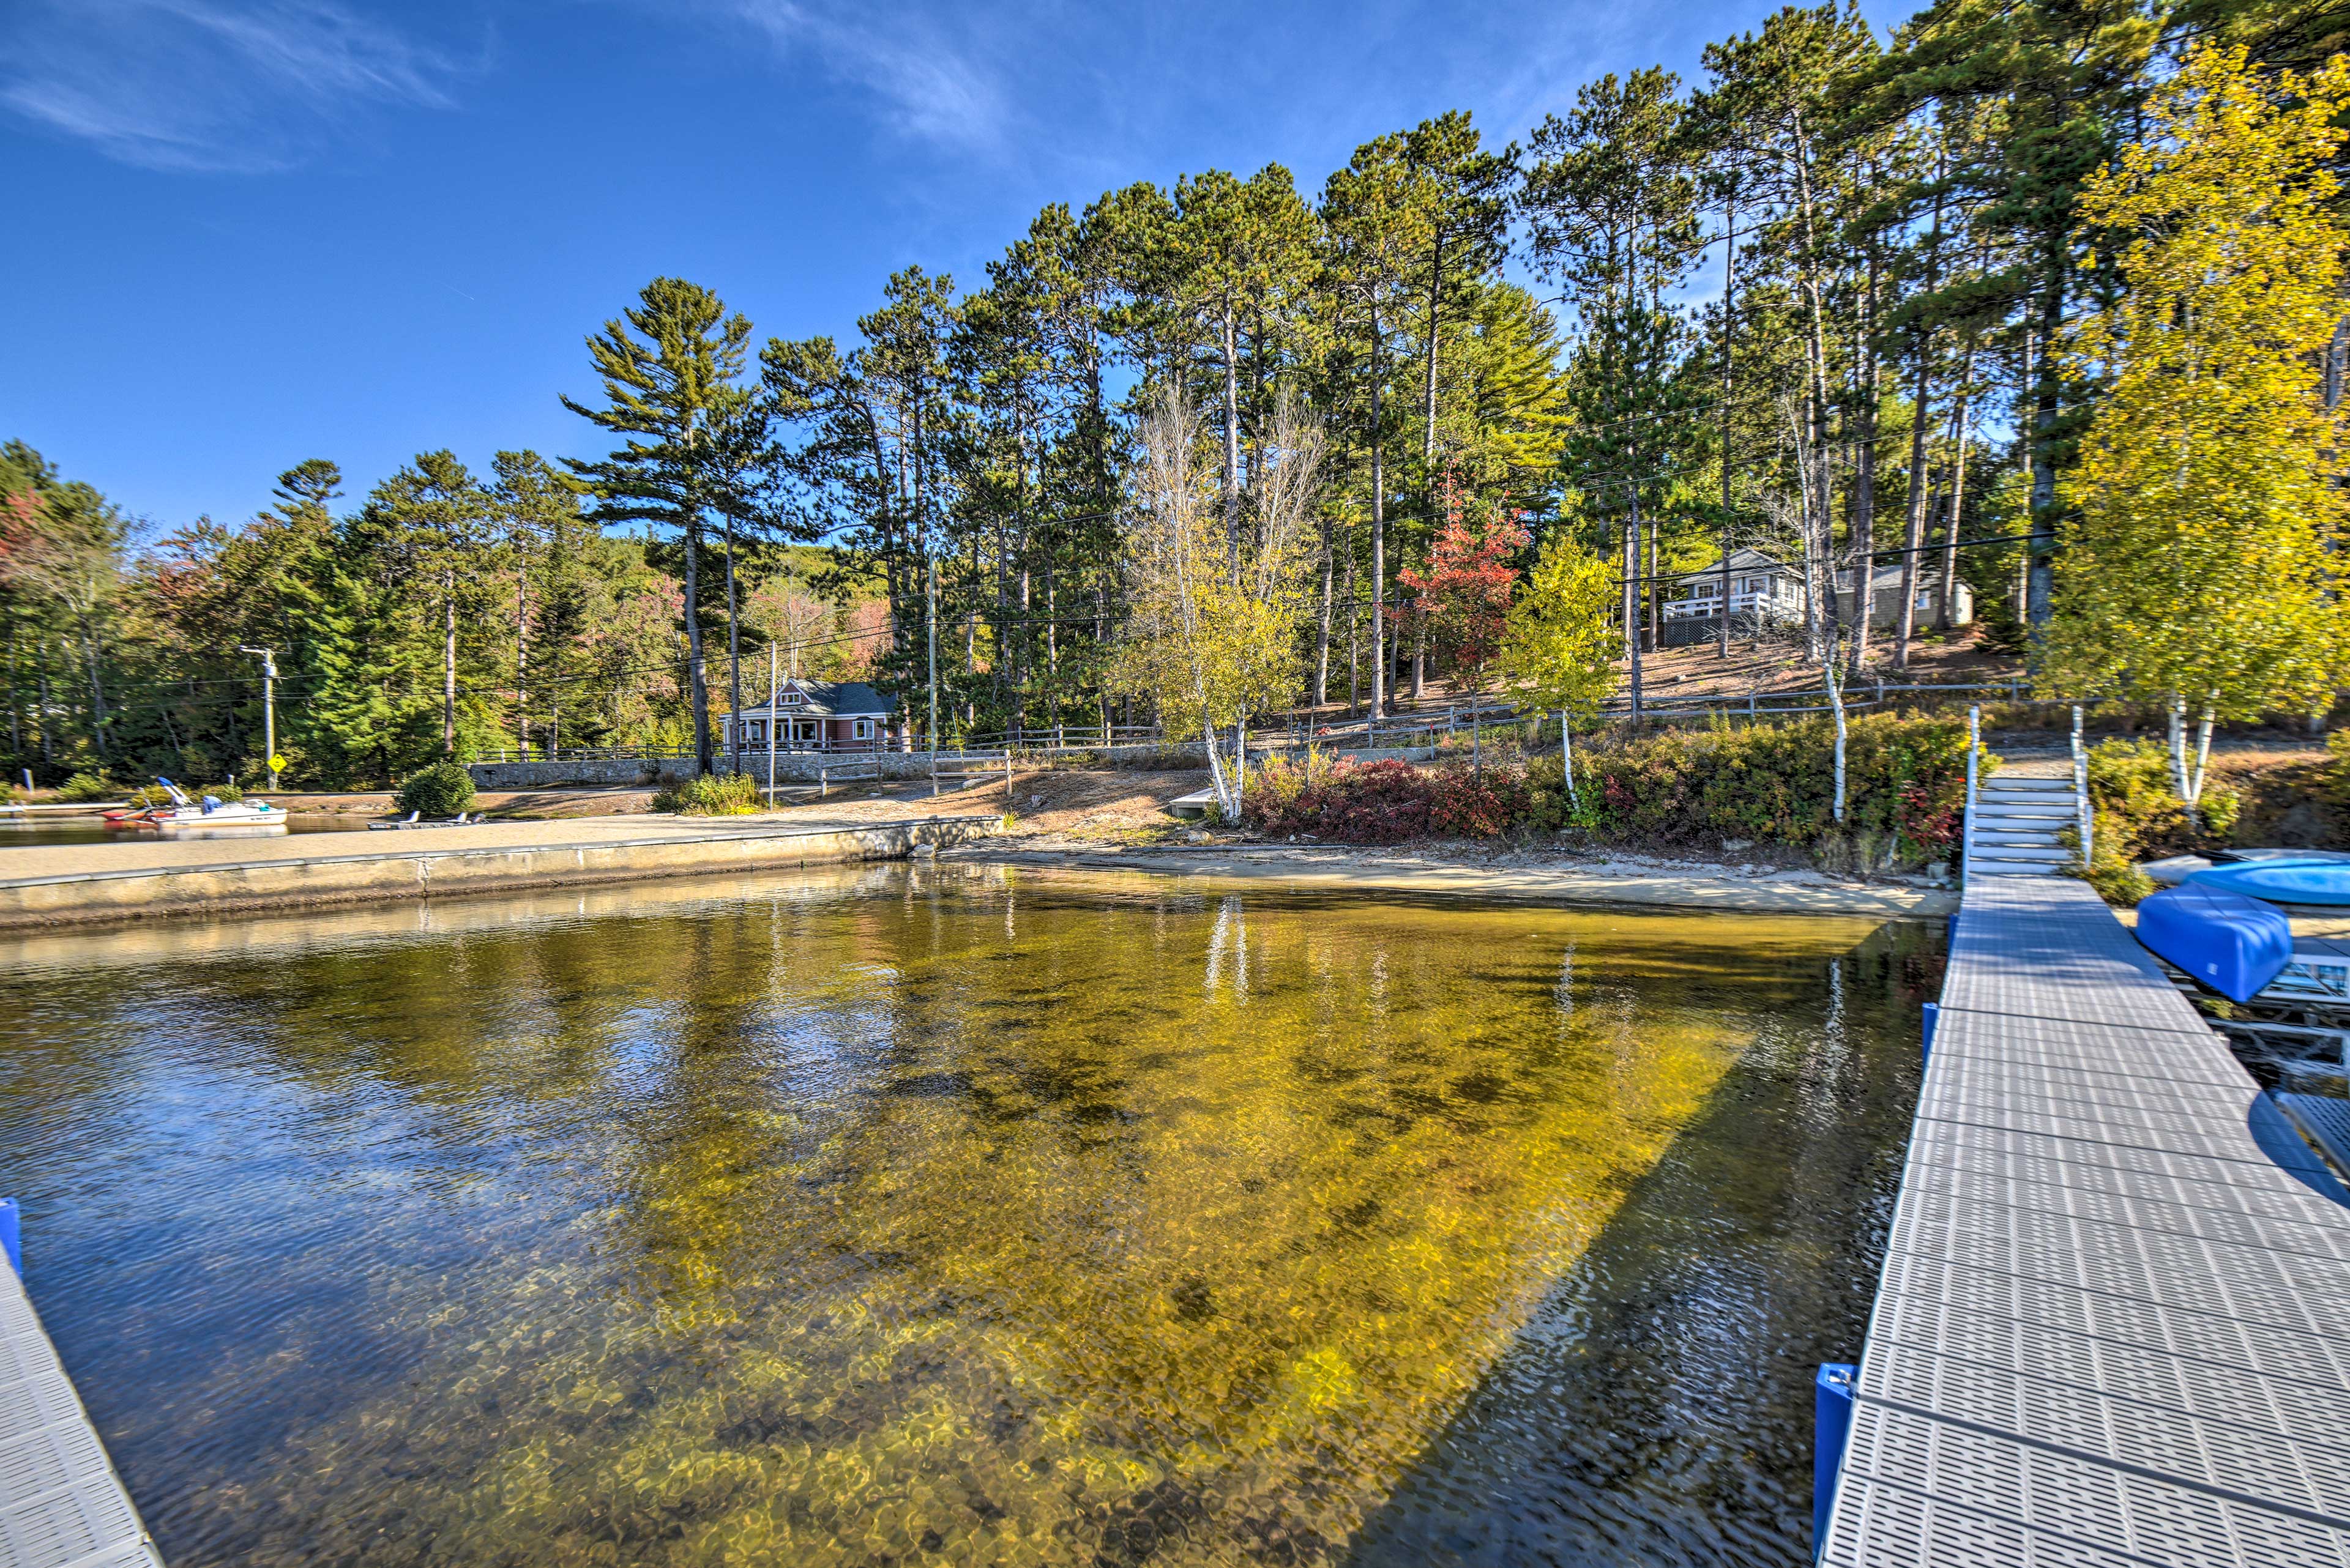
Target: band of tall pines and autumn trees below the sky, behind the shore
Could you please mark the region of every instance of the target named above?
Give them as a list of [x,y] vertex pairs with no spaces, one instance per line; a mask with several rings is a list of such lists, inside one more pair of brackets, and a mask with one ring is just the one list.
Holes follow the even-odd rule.
[[[501,745],[707,757],[733,665],[759,701],[771,646],[886,684],[916,733],[1196,733],[1436,668],[1551,689],[1495,646],[1513,585],[1582,583],[1546,637],[1605,658],[1574,616],[1638,646],[1643,585],[1725,545],[1800,574],[1788,632],[1821,665],[1906,663],[1965,581],[2087,696],[2317,710],[2343,644],[2312,588],[2341,489],[2341,21],[1941,0],[1887,38],[1791,7],[1697,80],[1572,92],[1523,143],[1459,110],[1318,183],[1210,169],[1046,207],[982,275],[879,280],[844,339],[653,280],[564,388],[573,458],[310,456],[237,524],[134,522],[103,475],[7,444],[0,745],[42,780],[254,771],[240,649],[275,649],[280,750],[315,785]],[[2218,207],[2202,261],[2174,254]],[[2164,423],[2178,367],[2254,362],[2202,374],[2258,407]],[[2186,444],[2232,454],[2200,491]],[[2157,470],[2200,496],[2178,517],[2143,505]],[[2235,517],[2254,470],[2310,482]],[[1864,559],[1901,567],[1892,628],[1828,588]],[[2171,571],[2124,592],[2150,559]],[[2195,571],[2265,607],[2258,670],[2146,654]]]

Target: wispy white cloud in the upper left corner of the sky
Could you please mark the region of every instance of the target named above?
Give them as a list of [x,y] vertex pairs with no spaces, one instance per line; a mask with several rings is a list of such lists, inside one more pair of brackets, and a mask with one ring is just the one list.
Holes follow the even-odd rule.
[[336,0],[19,2],[0,106],[148,169],[291,167],[367,108],[449,108],[463,73]]

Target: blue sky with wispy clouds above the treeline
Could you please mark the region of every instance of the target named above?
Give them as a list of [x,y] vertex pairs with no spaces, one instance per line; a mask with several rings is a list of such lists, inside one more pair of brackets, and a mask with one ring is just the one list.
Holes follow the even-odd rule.
[[1603,71],[1694,75],[1765,12],[0,0],[0,437],[160,529],[310,456],[357,496],[432,447],[580,454],[557,393],[653,275],[848,334],[1046,202],[1271,160],[1318,190],[1445,108],[1509,139]]

